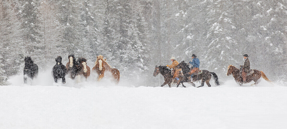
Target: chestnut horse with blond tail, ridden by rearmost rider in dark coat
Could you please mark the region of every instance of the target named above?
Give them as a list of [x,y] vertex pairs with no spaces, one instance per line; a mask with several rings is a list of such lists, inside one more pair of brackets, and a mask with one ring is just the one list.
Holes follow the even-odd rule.
[[268,82],[272,82],[271,80],[269,80],[268,78],[267,78],[267,76],[264,74],[264,72],[262,72],[262,71],[258,71],[258,70],[256,70],[256,69],[253,69],[253,73],[252,74],[250,74],[250,75],[248,75],[247,77],[246,77],[246,82],[243,82],[243,79],[242,79],[242,77],[240,76],[240,70],[238,69],[238,68],[236,68],[236,67],[234,67],[233,65],[229,65],[228,66],[228,69],[227,69],[227,76],[229,76],[229,75],[233,75],[233,77],[234,77],[234,80],[237,82],[237,83],[239,83],[239,85],[242,85],[243,83],[249,83],[249,82],[251,82],[251,81],[254,81],[255,83],[254,84],[251,84],[251,86],[253,86],[253,85],[255,85],[255,84],[258,84],[259,82],[260,82],[260,80],[259,80],[259,78],[261,78],[261,76],[262,76],[262,78],[263,79],[265,79],[266,81],[268,81]]

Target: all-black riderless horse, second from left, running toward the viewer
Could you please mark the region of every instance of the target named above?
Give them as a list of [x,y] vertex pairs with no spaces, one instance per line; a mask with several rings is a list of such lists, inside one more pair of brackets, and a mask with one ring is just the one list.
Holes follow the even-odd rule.
[[65,75],[67,72],[67,68],[65,65],[62,64],[61,56],[58,56],[57,58],[55,58],[55,61],[56,61],[56,65],[54,65],[52,69],[52,75],[53,75],[54,81],[58,83],[58,79],[62,78],[62,83],[65,84],[66,83]]

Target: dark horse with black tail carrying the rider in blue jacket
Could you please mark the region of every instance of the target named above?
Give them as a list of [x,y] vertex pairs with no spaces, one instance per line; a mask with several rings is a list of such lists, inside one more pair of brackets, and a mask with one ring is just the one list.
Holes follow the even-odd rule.
[[[190,71],[190,69],[193,69],[193,68],[189,68],[189,64],[185,63],[184,61],[181,61],[181,63],[179,63],[177,66],[175,66],[175,68],[181,68],[181,70],[183,71],[183,76],[185,79],[181,80],[180,83],[191,81],[191,79],[188,79],[188,78],[190,78],[190,74],[188,74],[188,72]],[[198,75],[194,75],[192,77],[192,80],[193,80],[193,82],[201,80],[201,85],[198,87],[204,86],[204,82],[208,85],[208,87],[210,87],[211,85],[210,85],[209,81],[210,81],[212,75],[213,75],[214,83],[217,86],[219,86],[220,83],[218,82],[218,76],[214,72],[209,72],[208,70],[202,70],[202,73],[198,74]],[[191,84],[195,87],[195,84],[193,82]],[[179,86],[179,84],[177,85],[177,87],[178,86]]]

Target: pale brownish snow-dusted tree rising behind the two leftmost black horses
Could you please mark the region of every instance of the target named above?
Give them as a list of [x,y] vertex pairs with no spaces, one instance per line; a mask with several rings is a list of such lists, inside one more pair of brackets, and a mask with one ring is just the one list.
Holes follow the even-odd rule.
[[55,62],[55,57],[59,55],[68,55],[65,43],[61,42],[63,29],[56,16],[56,5],[52,1],[43,1],[39,8],[41,35],[43,35],[42,42],[44,44],[43,53],[44,64],[51,64]]

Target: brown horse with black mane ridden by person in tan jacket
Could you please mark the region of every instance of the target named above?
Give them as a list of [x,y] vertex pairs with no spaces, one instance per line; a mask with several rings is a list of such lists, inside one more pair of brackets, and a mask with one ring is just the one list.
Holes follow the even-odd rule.
[[[167,68],[166,66],[156,65],[156,67],[154,68],[154,76],[158,74],[162,74],[162,76],[164,77],[164,83],[161,85],[161,87],[166,84],[168,84],[168,87],[171,87],[171,82],[172,82],[172,77],[173,77],[173,75],[171,74],[171,70]],[[179,76],[179,80],[174,80],[174,82],[179,85],[182,79],[183,79],[183,76]],[[181,82],[181,84],[183,87],[185,87],[183,85],[183,82]]]

